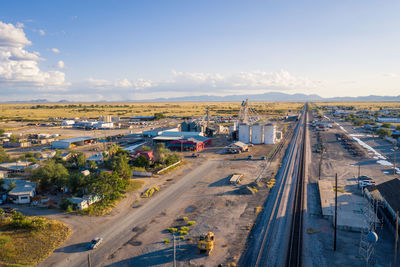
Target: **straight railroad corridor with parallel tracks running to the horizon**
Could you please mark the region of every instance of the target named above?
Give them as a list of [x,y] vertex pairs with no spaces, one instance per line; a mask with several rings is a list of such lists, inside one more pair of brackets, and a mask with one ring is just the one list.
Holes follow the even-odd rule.
[[305,107],[240,266],[301,266],[306,114]]

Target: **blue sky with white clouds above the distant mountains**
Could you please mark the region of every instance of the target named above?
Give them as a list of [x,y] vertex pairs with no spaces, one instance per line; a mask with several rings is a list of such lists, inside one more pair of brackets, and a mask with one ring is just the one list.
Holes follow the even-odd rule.
[[400,1],[0,0],[0,101],[400,95]]

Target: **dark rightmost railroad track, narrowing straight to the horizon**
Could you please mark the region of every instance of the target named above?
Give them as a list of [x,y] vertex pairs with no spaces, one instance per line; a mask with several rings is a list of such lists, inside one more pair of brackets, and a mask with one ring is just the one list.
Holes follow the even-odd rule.
[[304,178],[305,178],[305,151],[306,151],[306,127],[307,108],[304,116],[303,136],[301,143],[300,164],[297,172],[297,183],[295,190],[292,225],[287,254],[287,266],[301,266],[302,244],[303,244],[303,203],[304,203]]

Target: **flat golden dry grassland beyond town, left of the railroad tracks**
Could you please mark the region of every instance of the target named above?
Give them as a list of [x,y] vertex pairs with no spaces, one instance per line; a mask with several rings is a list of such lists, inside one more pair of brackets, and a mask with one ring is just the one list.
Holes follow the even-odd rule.
[[[48,120],[49,118],[85,117],[101,115],[120,117],[150,116],[163,113],[166,116],[201,116],[207,106],[211,115],[236,115],[240,102],[179,102],[179,103],[24,103],[1,104],[0,120]],[[252,102],[250,106],[259,114],[282,114],[298,110],[304,103]]]

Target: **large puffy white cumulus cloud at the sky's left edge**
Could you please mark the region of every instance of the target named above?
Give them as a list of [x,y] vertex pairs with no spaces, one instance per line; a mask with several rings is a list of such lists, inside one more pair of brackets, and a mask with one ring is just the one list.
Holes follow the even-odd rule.
[[65,85],[63,72],[40,70],[38,62],[44,59],[38,52],[25,50],[30,44],[22,28],[0,21],[0,83],[14,85],[14,89]]

